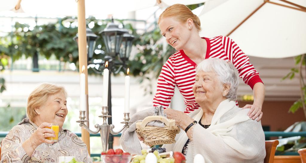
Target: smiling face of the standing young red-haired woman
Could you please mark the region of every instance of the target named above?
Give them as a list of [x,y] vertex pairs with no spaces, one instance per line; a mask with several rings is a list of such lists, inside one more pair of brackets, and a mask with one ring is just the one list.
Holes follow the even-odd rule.
[[176,50],[184,49],[188,42],[191,31],[189,30],[187,20],[186,23],[177,21],[174,17],[162,17],[159,22],[159,29],[162,36],[166,37],[166,41]]

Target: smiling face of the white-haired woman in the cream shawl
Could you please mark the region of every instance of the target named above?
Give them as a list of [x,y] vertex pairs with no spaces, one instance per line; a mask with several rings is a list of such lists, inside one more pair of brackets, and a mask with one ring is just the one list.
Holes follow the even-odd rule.
[[202,107],[213,103],[219,104],[225,100],[224,91],[220,84],[215,72],[198,72],[196,74],[196,83],[192,87],[196,102]]

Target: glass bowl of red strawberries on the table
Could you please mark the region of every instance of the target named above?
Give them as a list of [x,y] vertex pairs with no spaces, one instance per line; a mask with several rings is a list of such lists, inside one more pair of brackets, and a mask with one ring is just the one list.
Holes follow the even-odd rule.
[[122,149],[108,149],[107,152],[101,152],[101,161],[103,163],[129,163],[131,159],[131,154],[123,152]]

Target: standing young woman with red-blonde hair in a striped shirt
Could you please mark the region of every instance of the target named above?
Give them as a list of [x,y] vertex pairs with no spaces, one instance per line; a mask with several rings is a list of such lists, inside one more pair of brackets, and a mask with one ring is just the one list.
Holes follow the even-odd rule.
[[178,87],[184,97],[185,113],[190,113],[200,106],[192,92],[195,83],[196,66],[208,58],[220,58],[232,62],[244,83],[253,89],[254,103],[243,108],[250,108],[248,116],[259,121],[262,118],[264,85],[259,73],[249,63],[249,58],[229,37],[200,37],[199,17],[185,5],[175,4],[166,8],[159,16],[159,28],[166,41],[177,50],[162,67],[158,79],[154,106],[167,108]]

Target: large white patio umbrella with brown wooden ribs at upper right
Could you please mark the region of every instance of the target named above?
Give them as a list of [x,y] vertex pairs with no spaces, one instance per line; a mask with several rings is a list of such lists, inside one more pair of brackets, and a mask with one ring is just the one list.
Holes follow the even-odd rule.
[[304,6],[305,0],[208,1],[199,16],[200,36],[229,36],[249,56],[284,58],[304,54]]

